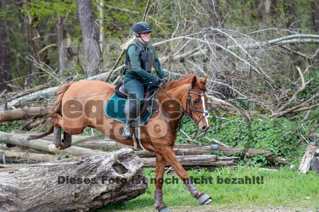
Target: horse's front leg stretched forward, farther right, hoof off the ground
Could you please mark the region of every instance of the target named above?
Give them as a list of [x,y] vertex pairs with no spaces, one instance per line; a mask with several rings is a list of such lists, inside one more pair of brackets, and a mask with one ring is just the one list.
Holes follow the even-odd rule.
[[211,203],[211,197],[206,195],[205,192],[200,193],[196,187],[190,181],[187,172],[179,163],[172,147],[162,147],[159,151],[165,160],[173,167],[178,177],[184,182],[189,193],[198,200],[200,205],[206,205]]

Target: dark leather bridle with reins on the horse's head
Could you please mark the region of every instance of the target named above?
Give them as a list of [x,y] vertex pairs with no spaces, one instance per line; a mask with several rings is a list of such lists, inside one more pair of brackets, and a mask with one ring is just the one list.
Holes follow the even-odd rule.
[[[184,124],[184,123],[186,123],[186,122],[188,122],[188,121],[190,121],[190,120],[192,120],[194,123],[196,123],[197,128],[199,128],[199,127],[198,127],[199,122],[200,122],[203,118],[205,118],[206,116],[208,116],[208,111],[207,111],[207,110],[206,110],[206,111],[202,111],[202,110],[198,110],[198,109],[193,108],[193,106],[192,106],[192,104],[191,104],[191,99],[190,99],[190,96],[189,96],[189,94],[196,94],[196,95],[198,95],[198,96],[203,97],[203,96],[205,96],[205,92],[204,92],[203,94],[199,94],[199,93],[190,91],[190,86],[191,86],[191,84],[189,84],[188,90],[187,90],[186,110],[184,110],[182,106],[180,107],[180,106],[161,88],[161,86],[159,86],[159,88],[167,95],[167,97],[179,108],[180,119],[179,119],[179,122],[178,122],[177,127],[174,128],[173,125],[171,124],[171,122],[168,120],[168,118],[163,114],[163,112],[162,112],[161,109],[160,109],[159,92],[157,92],[156,102],[157,102],[157,104],[158,104],[158,107],[157,107],[157,108],[154,108],[154,109],[156,109],[157,111],[159,111],[160,114],[165,118],[165,120],[166,120],[166,121],[168,122],[168,124],[171,126],[171,128],[172,128],[174,134],[179,131],[179,129],[180,129],[180,127],[181,127],[182,124]],[[187,110],[189,110],[189,112],[187,112]],[[198,121],[196,121],[196,120],[193,120],[193,119],[192,119],[192,118],[195,119],[195,116],[193,115],[192,111],[201,112],[201,113],[203,113],[204,115],[203,115]],[[181,123],[181,119],[182,119],[182,117],[183,117],[184,114],[186,114],[190,119]]]

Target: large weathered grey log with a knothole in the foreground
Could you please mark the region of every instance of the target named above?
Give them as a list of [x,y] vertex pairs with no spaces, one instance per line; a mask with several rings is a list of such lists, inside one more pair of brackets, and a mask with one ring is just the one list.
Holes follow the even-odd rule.
[[[8,178],[16,182],[8,185]],[[0,211],[93,211],[134,199],[145,193],[147,186],[140,158],[132,149],[123,148],[103,156],[2,172]],[[15,197],[14,204],[11,197]],[[16,209],[19,206],[21,209]]]

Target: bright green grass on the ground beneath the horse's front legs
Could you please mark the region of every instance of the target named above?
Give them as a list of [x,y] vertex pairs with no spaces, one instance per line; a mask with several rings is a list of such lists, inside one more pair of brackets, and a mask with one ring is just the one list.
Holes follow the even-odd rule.
[[[106,211],[150,211],[154,209],[155,185],[150,179],[155,178],[152,169],[144,168],[149,178],[149,186],[145,194],[125,203],[115,204],[104,209]],[[196,188],[212,197],[208,206],[198,207],[198,201],[191,197],[181,180],[179,184],[163,185],[163,203],[171,208],[191,206],[193,210],[209,209],[250,209],[254,207],[283,207],[287,209],[312,208],[319,210],[319,176],[314,172],[307,175],[295,170],[282,168],[278,172],[259,171],[257,167],[240,167],[236,170],[229,168],[215,171],[191,170],[188,175],[194,178],[211,177],[212,184],[197,184]],[[217,176],[222,178],[244,178],[264,176],[264,184],[217,184]],[[171,175],[164,175],[171,178]],[[193,208],[192,208],[193,207]],[[211,208],[212,207],[212,208]],[[189,210],[189,208],[187,208]]]

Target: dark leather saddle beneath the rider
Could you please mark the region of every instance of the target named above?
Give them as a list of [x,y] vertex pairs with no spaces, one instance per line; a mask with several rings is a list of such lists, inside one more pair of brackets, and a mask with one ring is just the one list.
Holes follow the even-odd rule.
[[[150,106],[152,102],[152,97],[155,95],[155,91],[159,88],[157,85],[151,85],[150,87],[147,87],[147,89],[144,89],[145,92],[145,100],[141,106],[141,111],[140,111],[140,116],[143,117],[147,112],[147,108]],[[116,86],[115,86],[115,94],[121,98],[128,99],[129,94],[127,93],[123,81],[120,81]],[[125,111],[125,107],[124,107]],[[125,112],[124,112],[125,113]]]

